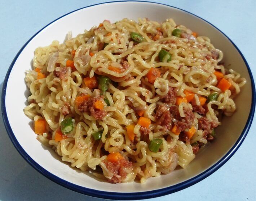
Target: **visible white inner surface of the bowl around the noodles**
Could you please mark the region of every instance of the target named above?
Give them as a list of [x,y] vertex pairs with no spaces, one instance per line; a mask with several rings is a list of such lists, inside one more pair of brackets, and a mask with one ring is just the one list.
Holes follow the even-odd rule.
[[[31,127],[31,120],[23,113],[28,95],[24,81],[25,70],[31,69],[31,60],[36,47],[49,45],[53,40],[63,42],[68,31],[72,31],[73,36],[76,36],[78,33],[82,33],[84,29],[98,25],[104,19],[115,22],[122,18],[137,20],[139,17],[148,17],[158,22],[173,18],[177,24],[183,24],[198,32],[199,35],[208,36],[212,44],[224,52],[225,65],[229,65],[228,68],[236,70],[241,74],[241,77],[246,78],[247,84],[242,88],[240,95],[235,98],[237,111],[232,117],[223,118],[222,126],[216,129],[216,140],[201,150],[186,169],[179,168],[171,174],[150,178],[145,184],[138,182],[111,184],[97,180],[89,172],[84,173],[72,169],[67,163],[63,163],[51,148],[41,145],[36,140],[36,134]],[[169,6],[145,2],[116,2],[80,9],[53,22],[32,38],[18,56],[10,72],[6,87],[5,105],[15,138],[27,154],[42,168],[81,187],[123,193],[151,191],[173,186],[199,175],[218,163],[235,145],[243,131],[250,113],[251,99],[252,89],[246,65],[237,49],[216,28],[192,14]]]

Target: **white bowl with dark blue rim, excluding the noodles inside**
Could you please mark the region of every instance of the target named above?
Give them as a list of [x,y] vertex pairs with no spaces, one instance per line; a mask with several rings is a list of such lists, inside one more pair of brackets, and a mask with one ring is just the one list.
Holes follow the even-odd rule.
[[[31,120],[23,113],[28,95],[24,81],[25,70],[31,68],[36,47],[48,45],[53,40],[62,42],[68,31],[76,36],[104,19],[115,22],[122,18],[137,20],[139,17],[148,17],[158,22],[173,18],[177,24],[183,24],[199,35],[208,36],[212,44],[224,52],[225,64],[230,64],[230,68],[240,72],[247,79],[247,84],[235,98],[237,111],[232,117],[223,119],[222,126],[217,128],[216,140],[200,151],[186,169],[180,168],[171,174],[150,178],[145,184],[112,184],[99,181],[88,172],[72,169],[52,149],[36,140],[36,134],[30,126]],[[37,32],[21,48],[10,65],[3,85],[1,103],[10,139],[24,159],[40,173],[62,186],[89,196],[137,200],[179,191],[220,168],[238,149],[250,128],[255,110],[255,86],[251,70],[237,46],[206,20],[168,5],[125,1],[81,8],[54,20]]]

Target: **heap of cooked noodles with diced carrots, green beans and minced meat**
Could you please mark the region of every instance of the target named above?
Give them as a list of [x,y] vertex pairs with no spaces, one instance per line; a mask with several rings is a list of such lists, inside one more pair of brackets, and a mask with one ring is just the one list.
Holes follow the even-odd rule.
[[143,183],[186,168],[236,110],[246,79],[222,58],[173,19],[104,20],[35,50],[24,111],[37,139],[72,167]]

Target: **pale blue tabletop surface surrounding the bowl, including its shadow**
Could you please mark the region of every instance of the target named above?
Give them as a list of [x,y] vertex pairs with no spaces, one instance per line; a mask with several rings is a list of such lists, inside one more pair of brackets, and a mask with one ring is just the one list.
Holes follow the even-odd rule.
[[[0,89],[10,63],[23,44],[39,29],[72,10],[102,3],[103,0],[0,0]],[[242,51],[256,75],[256,1],[162,0],[202,17],[221,29]],[[171,195],[153,198],[169,200],[256,200],[256,121],[242,146],[219,170],[203,181]],[[0,117],[0,200],[87,200],[104,201],[81,195],[45,178],[18,154]]]

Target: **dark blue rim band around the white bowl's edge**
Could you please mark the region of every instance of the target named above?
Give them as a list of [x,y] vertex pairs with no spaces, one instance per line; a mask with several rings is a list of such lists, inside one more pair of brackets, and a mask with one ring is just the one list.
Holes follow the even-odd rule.
[[[81,187],[78,186],[76,184],[72,184],[64,179],[61,179],[59,177],[57,177],[56,175],[48,172],[47,170],[45,170],[42,166],[40,166],[39,164],[37,164],[27,153],[26,151],[21,147],[21,145],[19,144],[19,142],[17,141],[16,137],[14,136],[14,133],[12,131],[12,128],[10,127],[10,123],[7,117],[7,113],[6,113],[6,107],[5,107],[5,95],[6,95],[6,86],[7,86],[7,82],[8,82],[8,78],[10,75],[10,72],[13,68],[13,65],[15,64],[18,56],[21,54],[21,52],[23,51],[23,49],[27,46],[27,44],[38,34],[40,33],[43,29],[45,29],[46,27],[48,27],[50,24],[52,24],[53,22],[55,22],[56,20],[65,17],[66,15],[69,15],[70,13],[76,12],[78,10],[84,9],[84,8],[88,8],[91,6],[96,6],[96,5],[100,5],[100,4],[107,4],[107,3],[117,3],[117,2],[144,2],[144,3],[153,3],[153,4],[160,4],[160,5],[165,5],[165,6],[169,6],[172,8],[176,8],[179,10],[182,10],[186,13],[189,13],[191,15],[194,15],[195,17],[198,17],[199,19],[204,20],[205,22],[207,22],[208,24],[210,24],[211,26],[213,26],[214,28],[216,28],[218,31],[220,31],[226,38],[228,38],[228,40],[233,44],[233,46],[237,49],[237,51],[239,52],[239,54],[241,55],[244,63],[246,64],[248,73],[250,75],[250,79],[251,79],[251,88],[252,88],[252,104],[251,104],[251,110],[250,110],[250,114],[248,116],[246,125],[241,133],[241,135],[239,136],[237,142],[235,142],[235,144],[233,145],[233,147],[231,147],[231,149],[213,166],[211,166],[210,168],[208,168],[207,170],[205,170],[204,172],[200,173],[199,175],[188,179],[187,181],[178,183],[174,186],[170,186],[170,187],[165,187],[165,188],[161,188],[161,189],[156,189],[153,191],[144,191],[144,192],[136,192],[136,193],[117,193],[117,192],[106,192],[106,191],[98,191],[98,190],[94,190],[94,189],[90,189],[90,188],[85,188],[85,187]],[[10,64],[10,67],[6,73],[5,79],[4,79],[4,84],[3,84],[3,90],[2,90],[2,96],[1,96],[1,110],[2,110],[2,115],[3,115],[3,121],[4,121],[4,125],[6,128],[6,131],[8,133],[8,136],[10,138],[10,140],[12,141],[14,147],[18,150],[19,154],[21,154],[21,156],[33,167],[35,168],[39,173],[43,174],[45,177],[49,178],[50,180],[52,180],[53,182],[60,184],[63,187],[69,188],[73,191],[79,192],[79,193],[83,193],[85,195],[88,196],[92,196],[92,197],[98,197],[98,198],[105,198],[105,199],[110,199],[110,200],[139,200],[139,199],[147,199],[147,198],[153,198],[153,197],[159,197],[159,196],[164,196],[170,193],[174,193],[177,191],[180,191],[184,188],[187,188],[189,186],[192,186],[193,184],[205,179],[206,177],[208,177],[209,175],[211,175],[212,173],[214,173],[217,169],[219,169],[222,165],[224,165],[231,156],[233,156],[233,154],[237,151],[237,149],[240,147],[240,145],[242,144],[242,142],[244,141],[244,138],[246,137],[251,124],[252,124],[252,120],[253,120],[253,115],[255,112],[255,84],[254,84],[254,80],[253,80],[253,76],[252,76],[252,72],[250,70],[250,67],[246,61],[246,59],[244,58],[242,52],[238,49],[238,47],[233,43],[233,41],[230,40],[230,38],[228,36],[225,35],[225,33],[223,33],[219,28],[215,27],[213,24],[211,24],[210,22],[208,22],[207,20],[193,14],[190,13],[186,10],[177,8],[175,6],[171,6],[171,5],[167,5],[167,4],[162,4],[162,3],[156,3],[156,2],[151,2],[151,1],[137,1],[137,0],[125,0],[125,1],[110,1],[110,2],[104,2],[104,3],[99,3],[99,4],[93,4],[93,5],[89,5],[89,6],[85,6],[83,8],[79,8],[76,9],[70,13],[67,13],[55,20],[53,20],[52,22],[50,22],[49,24],[47,24],[45,27],[43,27],[42,29],[40,29],[38,32],[35,33],[34,36],[32,36],[23,46],[22,48],[18,51],[17,55],[14,57],[12,63]]]

